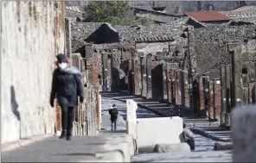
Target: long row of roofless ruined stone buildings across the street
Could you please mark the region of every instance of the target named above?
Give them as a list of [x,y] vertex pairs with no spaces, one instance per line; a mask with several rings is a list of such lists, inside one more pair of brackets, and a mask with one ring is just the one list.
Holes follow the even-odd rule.
[[[149,27],[72,22],[72,51],[93,64],[91,83],[99,91],[176,103],[228,125],[231,108],[253,100],[255,27],[192,17]],[[223,97],[234,101],[228,110]]]

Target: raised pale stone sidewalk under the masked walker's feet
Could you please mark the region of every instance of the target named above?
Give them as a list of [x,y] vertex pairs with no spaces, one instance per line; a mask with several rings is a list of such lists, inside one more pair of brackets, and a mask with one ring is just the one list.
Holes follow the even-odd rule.
[[130,162],[134,154],[131,136],[56,136],[2,153],[3,162]]

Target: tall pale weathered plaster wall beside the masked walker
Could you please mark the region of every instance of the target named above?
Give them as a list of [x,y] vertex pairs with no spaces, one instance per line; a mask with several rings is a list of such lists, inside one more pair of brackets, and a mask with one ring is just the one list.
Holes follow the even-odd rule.
[[64,52],[64,3],[2,2],[2,143],[54,133],[54,56]]

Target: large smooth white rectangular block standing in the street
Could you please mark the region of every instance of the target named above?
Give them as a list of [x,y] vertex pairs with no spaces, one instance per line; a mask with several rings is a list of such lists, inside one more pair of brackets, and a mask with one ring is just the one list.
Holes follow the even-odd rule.
[[153,152],[156,144],[180,143],[182,132],[182,118],[179,116],[138,119],[138,152]]

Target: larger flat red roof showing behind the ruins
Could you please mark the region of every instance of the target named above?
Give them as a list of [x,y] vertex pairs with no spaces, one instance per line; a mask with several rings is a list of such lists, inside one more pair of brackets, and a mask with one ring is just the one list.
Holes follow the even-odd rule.
[[229,17],[218,11],[184,12],[185,16],[193,17],[199,22],[228,21]]

